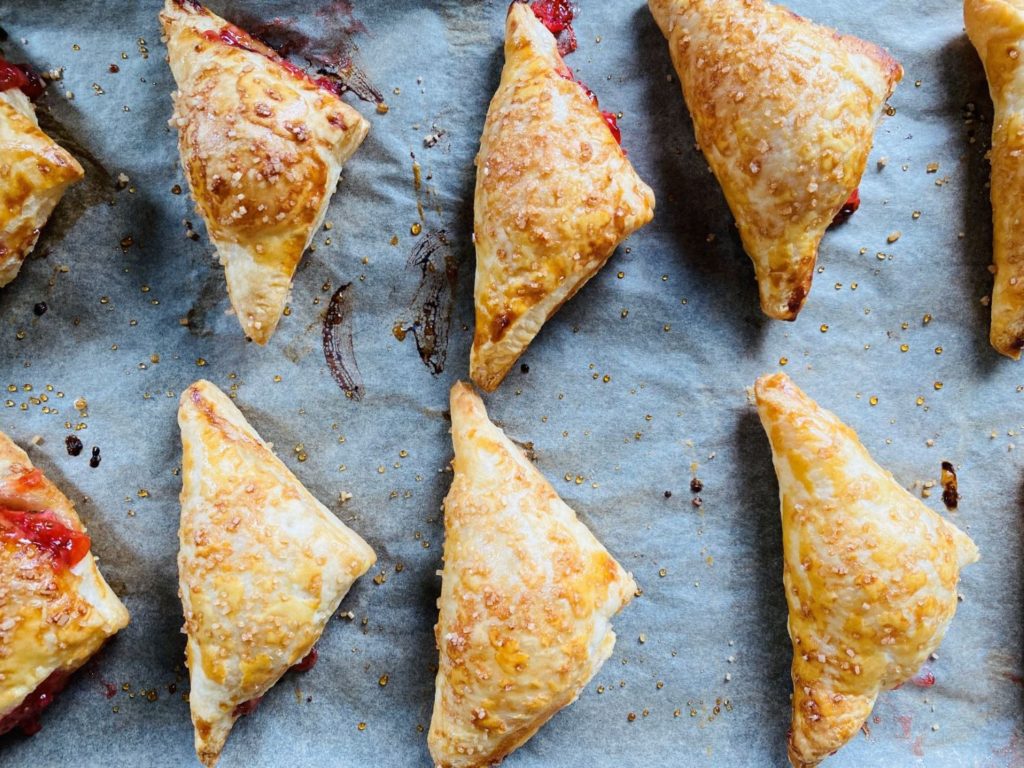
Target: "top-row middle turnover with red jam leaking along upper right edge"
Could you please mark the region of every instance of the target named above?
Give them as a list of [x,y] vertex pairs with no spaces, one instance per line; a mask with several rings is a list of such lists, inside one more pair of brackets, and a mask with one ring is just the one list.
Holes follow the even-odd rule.
[[548,317],[650,221],[654,195],[529,6],[513,2],[505,69],[476,157],[476,334],[493,391]]

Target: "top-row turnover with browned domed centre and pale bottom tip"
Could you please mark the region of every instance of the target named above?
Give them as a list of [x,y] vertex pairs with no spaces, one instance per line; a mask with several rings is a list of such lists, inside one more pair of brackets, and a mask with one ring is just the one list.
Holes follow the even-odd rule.
[[181,166],[246,335],[265,344],[370,124],[332,90],[195,0],[160,14],[178,85]]

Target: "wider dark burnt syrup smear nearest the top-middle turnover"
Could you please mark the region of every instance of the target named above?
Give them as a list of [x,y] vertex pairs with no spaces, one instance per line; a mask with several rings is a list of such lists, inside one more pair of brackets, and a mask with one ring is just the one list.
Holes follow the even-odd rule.
[[413,246],[406,263],[419,272],[419,285],[409,306],[412,322],[398,321],[393,333],[398,341],[412,333],[423,365],[431,373],[444,370],[447,358],[452,305],[459,280],[459,263],[443,229],[426,232]]

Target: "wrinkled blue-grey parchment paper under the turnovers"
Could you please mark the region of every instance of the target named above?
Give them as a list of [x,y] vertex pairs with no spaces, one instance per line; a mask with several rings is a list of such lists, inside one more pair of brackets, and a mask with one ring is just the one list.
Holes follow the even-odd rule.
[[[327,2],[211,7],[232,20],[279,17],[315,31]],[[755,378],[782,358],[914,493],[952,462],[963,499],[950,516],[982,552],[930,664],[934,687],[883,694],[869,732],[827,765],[1022,765],[1024,444],[1015,445],[1024,365],[987,342],[991,103],[959,3],[793,0],[797,11],[886,46],[906,68],[863,205],[825,238],[795,324],[758,308],[753,268],[694,147],[646,7],[580,4],[580,47],[568,62],[602,109],[623,113],[624,145],[657,210],[547,324],[525,367],[487,404],[512,437],[534,443],[540,469],[643,594],[616,618],[614,654],[580,700],[507,765],[784,764],[791,646],[777,485],[748,399]],[[87,172],[0,291],[0,400],[8,401],[0,428],[23,446],[43,439],[30,455],[78,505],[132,616],[45,714],[41,733],[0,739],[0,764],[196,765],[175,564],[175,410],[180,391],[205,377],[236,396],[379,556],[324,633],[316,667],[287,675],[239,721],[221,765],[428,766],[447,391],[467,376],[473,157],[501,71],[505,3],[355,0],[346,17],[353,57],[390,109],[380,115],[348,96],[373,128],[265,348],[247,343],[226,313],[223,270],[202,221],[187,190],[172,191],[185,182],[167,127],[174,86],[159,5],[0,0],[8,57],[65,68],[42,119]],[[344,15],[345,5],[334,12]],[[428,147],[431,135],[439,140]],[[411,153],[422,168],[419,196]],[[122,173],[129,182],[119,190]],[[424,234],[443,228],[459,265],[439,375],[412,335],[399,342],[392,332],[412,319],[419,285],[420,271],[407,266],[424,237],[411,233],[414,223]],[[366,391],[358,401],[335,384],[322,350],[329,299],[345,283]],[[40,301],[48,311],[37,317]],[[72,458],[63,442],[76,425],[85,425],[74,433],[86,450]],[[92,445],[102,456],[95,469]],[[931,490],[926,503],[946,514],[941,488]],[[342,503],[343,494],[351,499]]]

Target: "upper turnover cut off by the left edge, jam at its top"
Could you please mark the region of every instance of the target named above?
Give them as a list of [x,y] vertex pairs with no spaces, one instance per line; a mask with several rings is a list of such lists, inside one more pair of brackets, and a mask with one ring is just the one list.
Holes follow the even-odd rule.
[[39,128],[31,98],[44,85],[0,57],[0,288],[22,268],[65,190],[85,171]]

